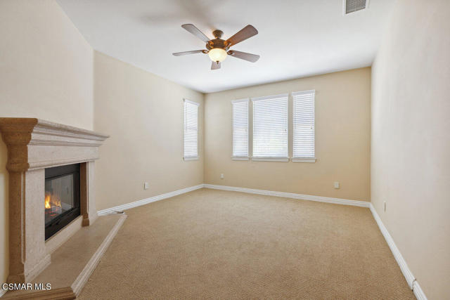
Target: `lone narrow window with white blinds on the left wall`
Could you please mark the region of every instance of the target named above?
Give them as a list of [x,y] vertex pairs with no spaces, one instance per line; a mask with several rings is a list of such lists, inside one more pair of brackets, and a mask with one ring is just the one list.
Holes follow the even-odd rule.
[[198,105],[184,100],[184,160],[198,159]]

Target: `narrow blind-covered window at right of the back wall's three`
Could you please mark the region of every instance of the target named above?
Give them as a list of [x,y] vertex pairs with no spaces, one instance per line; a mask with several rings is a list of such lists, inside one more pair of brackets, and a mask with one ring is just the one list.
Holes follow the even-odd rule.
[[314,94],[316,91],[293,93],[293,162],[315,162]]

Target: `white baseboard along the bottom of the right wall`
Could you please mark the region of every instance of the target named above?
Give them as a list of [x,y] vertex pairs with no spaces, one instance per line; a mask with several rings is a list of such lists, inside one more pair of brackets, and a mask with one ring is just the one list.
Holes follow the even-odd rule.
[[397,261],[397,263],[399,264],[401,273],[403,273],[404,277],[406,278],[406,282],[408,282],[409,287],[413,290],[414,295],[416,295],[416,298],[418,300],[427,300],[425,293],[420,288],[419,283],[417,282],[413,273],[409,269],[408,264],[406,263],[405,259],[401,255],[399,248],[397,248],[397,245],[395,244],[394,240],[392,239],[392,236],[385,228],[385,225],[381,221],[380,216],[378,216],[377,211],[375,211],[375,207],[373,207],[372,204],[370,207],[371,207],[371,212],[373,214],[373,219],[375,219],[375,221],[378,224],[378,227],[380,228],[381,233],[385,237],[387,245],[389,245],[389,247],[392,251],[392,254],[394,254],[394,258]]

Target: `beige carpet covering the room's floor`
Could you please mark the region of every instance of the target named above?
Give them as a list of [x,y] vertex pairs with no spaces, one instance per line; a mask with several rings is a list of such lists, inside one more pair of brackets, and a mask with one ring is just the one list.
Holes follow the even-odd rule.
[[366,208],[202,189],[127,214],[79,299],[415,299]]

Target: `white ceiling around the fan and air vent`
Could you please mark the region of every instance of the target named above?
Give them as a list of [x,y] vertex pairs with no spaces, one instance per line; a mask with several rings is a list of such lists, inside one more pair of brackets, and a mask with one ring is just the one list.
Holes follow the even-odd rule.
[[[393,2],[343,16],[342,0],[58,0],[97,51],[205,93],[369,66]],[[259,34],[232,48],[261,58],[212,71],[205,54],[172,56],[205,48],[185,23],[224,39],[251,24]]]

